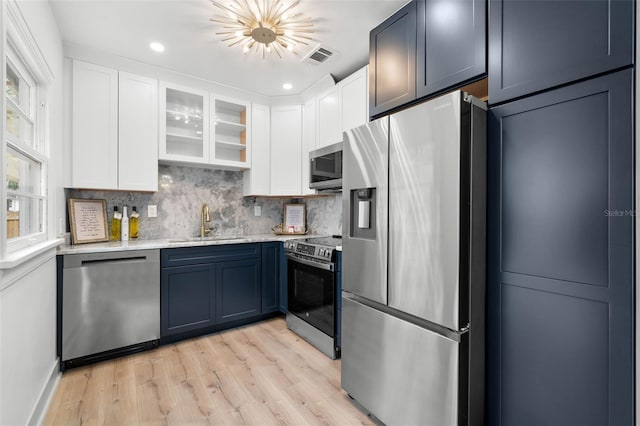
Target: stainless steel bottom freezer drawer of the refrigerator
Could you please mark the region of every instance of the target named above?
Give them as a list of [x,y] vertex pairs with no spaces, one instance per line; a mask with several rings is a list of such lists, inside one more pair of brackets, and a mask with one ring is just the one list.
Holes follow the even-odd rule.
[[348,297],[342,303],[347,393],[389,426],[457,425],[464,344]]

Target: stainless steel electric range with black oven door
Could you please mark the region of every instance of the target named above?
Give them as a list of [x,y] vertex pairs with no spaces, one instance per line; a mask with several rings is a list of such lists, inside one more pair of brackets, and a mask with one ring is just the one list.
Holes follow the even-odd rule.
[[332,359],[340,357],[339,236],[284,243],[287,255],[287,326]]

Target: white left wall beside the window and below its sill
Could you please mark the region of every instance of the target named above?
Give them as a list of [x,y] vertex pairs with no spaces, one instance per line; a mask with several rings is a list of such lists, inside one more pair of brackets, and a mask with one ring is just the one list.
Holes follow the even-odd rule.
[[[5,7],[10,7],[2,0]],[[58,27],[46,0],[20,0],[27,23],[54,75],[48,101],[50,238],[65,217],[62,188],[63,54]],[[3,25],[1,31],[6,31]],[[1,50],[1,49],[0,49]],[[0,425],[41,420],[59,376],[56,357],[55,249],[13,269],[0,270]]]

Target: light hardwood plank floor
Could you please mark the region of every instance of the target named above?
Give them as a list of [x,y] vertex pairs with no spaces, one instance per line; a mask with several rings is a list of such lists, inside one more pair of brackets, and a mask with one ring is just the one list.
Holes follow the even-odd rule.
[[45,425],[373,424],[282,318],[67,370]]

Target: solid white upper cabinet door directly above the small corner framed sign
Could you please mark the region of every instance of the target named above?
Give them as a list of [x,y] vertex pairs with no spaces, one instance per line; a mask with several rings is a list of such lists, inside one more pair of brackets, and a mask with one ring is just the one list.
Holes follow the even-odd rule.
[[302,106],[271,108],[271,195],[300,195]]

